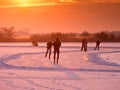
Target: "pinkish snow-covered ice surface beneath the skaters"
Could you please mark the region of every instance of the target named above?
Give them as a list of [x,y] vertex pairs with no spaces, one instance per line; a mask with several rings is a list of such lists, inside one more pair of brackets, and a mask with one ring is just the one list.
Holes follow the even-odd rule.
[[62,43],[58,65],[45,45],[0,43],[0,90],[120,90],[120,43]]

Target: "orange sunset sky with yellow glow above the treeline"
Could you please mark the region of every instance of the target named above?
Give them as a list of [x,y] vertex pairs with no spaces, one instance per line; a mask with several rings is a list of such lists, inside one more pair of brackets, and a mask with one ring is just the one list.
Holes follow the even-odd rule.
[[32,33],[120,31],[120,0],[0,0],[0,27]]

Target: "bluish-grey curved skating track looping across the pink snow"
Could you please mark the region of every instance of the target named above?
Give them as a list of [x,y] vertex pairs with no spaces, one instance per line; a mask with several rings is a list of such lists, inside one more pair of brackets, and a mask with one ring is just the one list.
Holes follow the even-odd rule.
[[[61,51],[62,53],[68,53],[68,52],[80,52],[79,50],[69,50],[69,51]],[[116,53],[120,53],[120,51],[114,51]],[[21,70],[71,70],[71,71],[90,71],[90,72],[120,72],[120,70],[101,70],[101,69],[86,69],[86,68],[76,68],[76,69],[68,69],[68,68],[45,68],[45,67],[28,67],[28,66],[13,66],[6,64],[6,62],[12,60],[12,59],[18,59],[23,55],[33,55],[33,54],[44,54],[45,52],[33,52],[33,53],[18,53],[18,54],[12,54],[7,57],[0,58],[0,67],[5,69],[21,69]],[[116,63],[109,63],[98,56],[103,53],[113,53],[112,52],[98,52],[98,53],[88,53],[87,57],[92,63],[101,64],[101,65],[108,65],[108,66],[117,66],[120,67],[120,65]]]

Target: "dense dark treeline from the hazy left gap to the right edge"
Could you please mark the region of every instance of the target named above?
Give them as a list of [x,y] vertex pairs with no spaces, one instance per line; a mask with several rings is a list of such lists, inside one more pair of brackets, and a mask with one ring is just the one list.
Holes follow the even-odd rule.
[[31,35],[30,40],[46,42],[49,40],[54,40],[55,37],[59,37],[62,42],[81,42],[83,38],[86,38],[89,42],[95,42],[96,40],[100,40],[102,42],[120,42],[120,31],[101,31],[97,33],[89,33],[87,31],[84,31],[82,33],[34,34]]

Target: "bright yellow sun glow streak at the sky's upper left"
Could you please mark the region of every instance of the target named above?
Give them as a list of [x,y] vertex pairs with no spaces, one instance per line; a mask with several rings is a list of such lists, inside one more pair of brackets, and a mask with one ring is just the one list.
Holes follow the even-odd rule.
[[9,7],[35,7],[35,6],[52,6],[61,3],[73,3],[74,0],[10,0],[9,4],[3,4],[0,8]]

